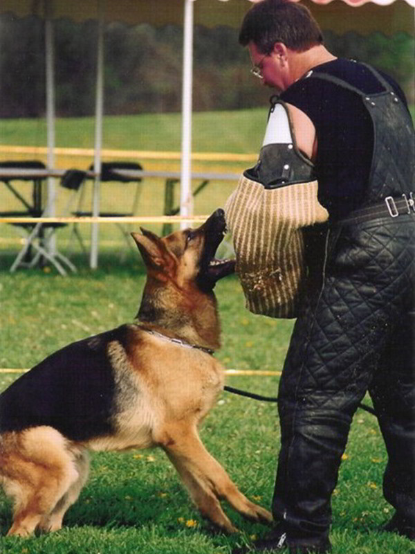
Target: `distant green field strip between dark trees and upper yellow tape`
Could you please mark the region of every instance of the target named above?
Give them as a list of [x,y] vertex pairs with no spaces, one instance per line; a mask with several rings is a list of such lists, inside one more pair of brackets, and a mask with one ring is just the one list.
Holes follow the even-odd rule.
[[[257,152],[264,137],[268,106],[237,111],[193,114],[194,152]],[[105,116],[104,148],[121,150],[181,150],[181,114]],[[56,145],[92,148],[94,118],[57,118]],[[46,145],[46,120],[1,121],[0,144]]]

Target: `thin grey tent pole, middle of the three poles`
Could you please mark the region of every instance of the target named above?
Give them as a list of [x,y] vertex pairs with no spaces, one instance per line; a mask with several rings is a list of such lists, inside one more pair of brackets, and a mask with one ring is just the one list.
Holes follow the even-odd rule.
[[[98,0],[98,52],[97,52],[97,84],[95,96],[95,155],[93,170],[92,214],[100,215],[100,173],[102,149],[102,115],[104,111],[104,0]],[[98,223],[91,225],[91,255],[89,260],[91,269],[98,267]]]

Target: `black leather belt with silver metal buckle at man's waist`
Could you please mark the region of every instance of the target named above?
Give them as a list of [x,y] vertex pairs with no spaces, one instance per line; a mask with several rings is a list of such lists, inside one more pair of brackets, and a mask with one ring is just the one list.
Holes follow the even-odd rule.
[[387,196],[383,202],[353,210],[338,223],[360,223],[376,220],[378,217],[395,218],[400,215],[415,215],[415,199],[413,196],[413,193],[409,193],[409,197],[403,194],[401,198]]

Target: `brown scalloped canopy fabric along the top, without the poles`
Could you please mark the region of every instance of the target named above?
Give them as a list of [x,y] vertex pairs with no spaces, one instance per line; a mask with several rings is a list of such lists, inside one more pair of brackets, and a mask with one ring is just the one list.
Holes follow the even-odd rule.
[[[148,23],[163,26],[182,25],[184,6],[188,0],[105,0],[105,21],[122,21],[136,25]],[[239,27],[243,15],[258,0],[190,0],[194,24]],[[44,16],[45,3],[53,6],[53,17],[70,17],[73,21],[97,19],[99,0],[0,0],[0,12],[12,12],[17,17],[28,14]],[[391,34],[398,30],[414,30],[414,0],[304,0],[302,1],[321,24],[338,33],[356,30],[371,33],[382,30]],[[359,7],[359,15],[351,8]]]

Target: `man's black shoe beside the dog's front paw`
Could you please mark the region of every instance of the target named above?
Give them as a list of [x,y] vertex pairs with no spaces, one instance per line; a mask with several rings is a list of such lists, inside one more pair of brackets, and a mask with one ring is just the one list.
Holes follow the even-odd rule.
[[265,539],[259,539],[250,546],[235,548],[232,554],[279,553],[289,554],[326,554],[331,551],[331,543],[326,537],[318,539],[288,538],[284,528],[277,526]]

